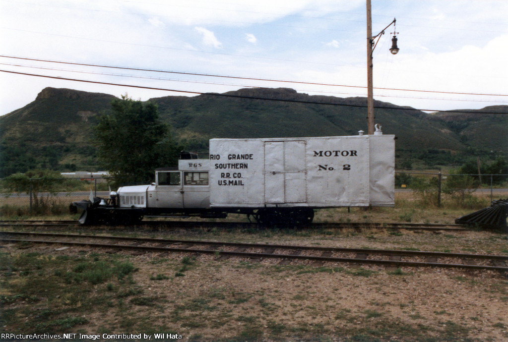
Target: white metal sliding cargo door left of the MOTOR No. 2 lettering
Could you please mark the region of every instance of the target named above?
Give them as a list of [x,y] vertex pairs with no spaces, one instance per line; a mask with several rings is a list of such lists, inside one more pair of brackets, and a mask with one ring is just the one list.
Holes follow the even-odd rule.
[[265,142],[265,202],[306,200],[305,141]]

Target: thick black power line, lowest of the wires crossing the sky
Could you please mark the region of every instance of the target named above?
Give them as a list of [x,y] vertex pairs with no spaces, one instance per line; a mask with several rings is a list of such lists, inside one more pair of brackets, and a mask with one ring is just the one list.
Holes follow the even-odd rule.
[[[57,77],[57,76],[47,76],[47,75],[37,75],[37,74],[28,74],[28,73],[20,73],[14,71],[0,70],[0,72],[17,74],[17,75],[25,75],[25,76],[34,76],[34,77],[44,77],[51,78],[56,80],[65,80],[65,81],[75,81],[75,82],[84,82],[84,83],[93,83],[93,84],[104,84],[104,85],[113,85],[120,87],[131,87],[131,88],[141,88],[141,89],[150,89],[150,90],[164,90],[164,91],[172,91],[178,93],[187,93],[187,94],[198,94],[198,95],[209,95],[209,96],[221,96],[221,97],[232,97],[232,98],[244,98],[244,99],[254,99],[254,100],[267,100],[267,101],[278,101],[278,102],[294,102],[299,104],[310,104],[310,105],[327,105],[327,106],[339,106],[339,107],[356,107],[356,108],[367,108],[364,105],[350,105],[350,104],[334,104],[331,102],[317,102],[317,101],[305,101],[305,100],[296,100],[296,99],[282,99],[282,98],[266,98],[266,97],[258,97],[258,96],[242,96],[242,95],[234,95],[234,94],[219,94],[219,93],[203,93],[199,91],[188,91],[188,90],[177,90],[177,89],[167,89],[167,88],[155,88],[155,87],[146,87],[146,86],[138,86],[131,84],[118,84],[118,83],[110,83],[110,82],[99,82],[99,81],[89,81],[89,80],[78,80],[66,77]],[[506,115],[508,113],[499,113],[499,112],[485,112],[485,111],[442,111],[436,109],[415,109],[408,107],[388,107],[388,106],[374,106],[377,109],[388,109],[388,110],[402,110],[402,111],[424,111],[424,112],[447,112],[447,113],[473,113],[473,114],[502,114]]]

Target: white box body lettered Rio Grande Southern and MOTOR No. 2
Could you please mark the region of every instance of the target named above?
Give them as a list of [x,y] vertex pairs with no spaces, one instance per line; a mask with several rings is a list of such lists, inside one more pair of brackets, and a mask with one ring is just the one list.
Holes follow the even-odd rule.
[[393,206],[394,139],[211,139],[210,207]]

